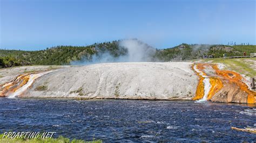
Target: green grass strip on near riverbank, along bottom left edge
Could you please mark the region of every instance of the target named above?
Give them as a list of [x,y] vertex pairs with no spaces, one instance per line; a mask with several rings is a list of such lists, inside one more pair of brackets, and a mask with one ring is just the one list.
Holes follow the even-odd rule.
[[3,138],[3,134],[0,134],[0,142],[6,142],[6,143],[37,143],[37,142],[42,142],[42,143],[46,143],[46,142],[63,142],[63,143],[68,143],[68,142],[72,142],[72,143],[100,143],[103,142],[102,140],[92,140],[92,141],[84,141],[84,140],[77,140],[77,139],[73,139],[72,141],[70,141],[69,138],[64,138],[62,136],[58,137],[58,138],[47,138],[47,139],[7,139],[7,138]]

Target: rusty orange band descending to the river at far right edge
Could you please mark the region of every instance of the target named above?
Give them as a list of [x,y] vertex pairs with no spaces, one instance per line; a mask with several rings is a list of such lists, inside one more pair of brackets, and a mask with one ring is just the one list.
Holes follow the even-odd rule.
[[223,77],[231,83],[237,84],[242,91],[246,92],[248,94],[248,104],[255,104],[256,92],[248,89],[248,86],[242,82],[242,76],[240,74],[230,70],[220,70],[217,65],[212,65],[212,68],[215,69],[217,75]]

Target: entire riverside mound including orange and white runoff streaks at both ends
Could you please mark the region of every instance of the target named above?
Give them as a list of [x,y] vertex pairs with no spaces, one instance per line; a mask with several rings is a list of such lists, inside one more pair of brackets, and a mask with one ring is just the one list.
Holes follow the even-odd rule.
[[1,85],[0,96],[255,104],[256,92],[243,81],[240,74],[210,63],[101,63],[15,75]]

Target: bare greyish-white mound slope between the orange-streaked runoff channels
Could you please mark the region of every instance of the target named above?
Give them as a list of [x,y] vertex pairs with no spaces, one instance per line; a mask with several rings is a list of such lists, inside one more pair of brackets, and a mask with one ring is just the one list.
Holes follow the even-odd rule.
[[[192,99],[198,77],[188,62],[101,63],[69,67],[38,78],[24,96]],[[36,91],[39,86],[47,87]]]

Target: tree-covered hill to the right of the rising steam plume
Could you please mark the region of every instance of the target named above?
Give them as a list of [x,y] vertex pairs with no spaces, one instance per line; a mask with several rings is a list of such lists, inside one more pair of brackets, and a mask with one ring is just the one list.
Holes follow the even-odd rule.
[[156,57],[161,61],[178,61],[178,60],[192,60],[201,59],[204,55],[213,56],[213,58],[223,58],[226,56],[243,56],[250,53],[256,53],[256,45],[187,45],[181,44],[179,46],[167,49],[158,49]]

